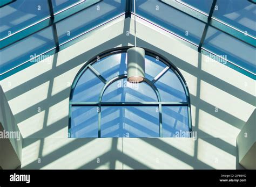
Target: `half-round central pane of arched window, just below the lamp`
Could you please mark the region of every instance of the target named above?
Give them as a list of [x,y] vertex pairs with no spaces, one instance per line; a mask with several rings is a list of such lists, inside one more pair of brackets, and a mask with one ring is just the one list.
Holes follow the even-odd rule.
[[157,95],[145,82],[133,84],[126,78],[113,82],[105,90],[103,102],[155,102]]

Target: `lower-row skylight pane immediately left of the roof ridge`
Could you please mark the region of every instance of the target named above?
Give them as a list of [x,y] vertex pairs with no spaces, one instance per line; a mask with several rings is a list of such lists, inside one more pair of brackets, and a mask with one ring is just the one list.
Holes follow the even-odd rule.
[[92,5],[56,24],[59,42],[62,44],[123,12],[125,12],[125,1],[105,0]]

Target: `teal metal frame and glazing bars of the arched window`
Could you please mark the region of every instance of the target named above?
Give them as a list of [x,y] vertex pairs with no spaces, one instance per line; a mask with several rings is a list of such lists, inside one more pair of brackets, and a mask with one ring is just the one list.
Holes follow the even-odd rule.
[[[105,78],[100,75],[100,73],[94,69],[91,65],[95,62],[97,62],[97,58],[100,57],[100,59],[102,59],[103,57],[106,56],[110,56],[113,54],[117,54],[117,53],[126,53],[127,49],[129,49],[130,47],[117,47],[117,48],[113,48],[113,49],[109,49],[107,51],[104,51],[103,53],[100,53],[99,55],[96,55],[94,57],[92,57],[89,61],[87,61],[84,66],[78,71],[78,74],[76,75],[72,85],[71,85],[71,91],[70,91],[70,100],[69,100],[69,128],[68,128],[68,137],[71,138],[71,109],[72,106],[98,106],[99,111],[98,111],[98,138],[102,138],[101,137],[101,107],[102,106],[158,106],[158,111],[159,111],[159,136],[163,137],[163,119],[162,119],[162,106],[187,106],[187,116],[188,116],[188,128],[190,131],[192,131],[192,124],[191,124],[191,105],[190,105],[190,97],[189,97],[189,91],[188,91],[188,87],[185,84],[186,81],[184,79],[184,77],[181,75],[180,71],[173,65],[173,63],[169,60],[167,60],[165,57],[163,57],[162,55],[151,51],[150,49],[145,49],[145,54],[152,56],[152,57],[159,57],[159,60],[163,63],[166,64],[167,68],[165,68],[164,70],[162,70],[156,77],[154,78],[152,81],[150,80],[145,80],[145,82],[150,85],[150,87],[154,90],[154,92],[156,93],[157,102],[102,102],[102,97],[104,95],[105,90],[115,81],[123,79],[125,77],[127,77],[126,74],[123,75],[119,75],[116,77],[111,78],[111,80],[107,81],[105,80]],[[73,97],[73,91],[76,88],[76,85],[78,83],[79,78],[85,73],[85,71],[87,69],[90,69],[103,83],[104,83],[104,87],[102,88],[102,90],[99,93],[99,100],[98,102],[72,102],[72,97]],[[186,100],[187,102],[162,102],[161,101],[161,97],[160,97],[160,93],[158,91],[158,89],[156,88],[156,86],[154,85],[154,83],[156,83],[156,81],[163,76],[167,70],[171,69],[179,78],[179,81],[181,82],[181,84],[183,85],[185,94],[186,94]]]

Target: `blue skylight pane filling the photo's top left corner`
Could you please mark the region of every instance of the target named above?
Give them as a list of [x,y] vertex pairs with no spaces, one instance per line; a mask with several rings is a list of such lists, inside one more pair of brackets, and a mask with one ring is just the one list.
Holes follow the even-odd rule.
[[0,37],[7,37],[49,16],[48,0],[18,0],[10,3],[0,11]]

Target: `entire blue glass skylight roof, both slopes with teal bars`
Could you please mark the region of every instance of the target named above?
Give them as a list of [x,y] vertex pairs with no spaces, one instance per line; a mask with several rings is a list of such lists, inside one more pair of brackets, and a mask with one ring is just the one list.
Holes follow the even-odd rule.
[[[1,1],[0,80],[33,64],[31,56],[58,52],[59,48],[65,48],[63,44],[79,40],[78,36],[93,27],[125,12],[129,14],[133,0],[49,2]],[[211,8],[212,17],[208,21]],[[136,13],[149,24],[157,24],[198,47],[199,52],[226,57],[227,66],[255,79],[256,4],[253,1],[136,0]],[[21,46],[26,42],[30,42],[30,47],[24,49]]]

